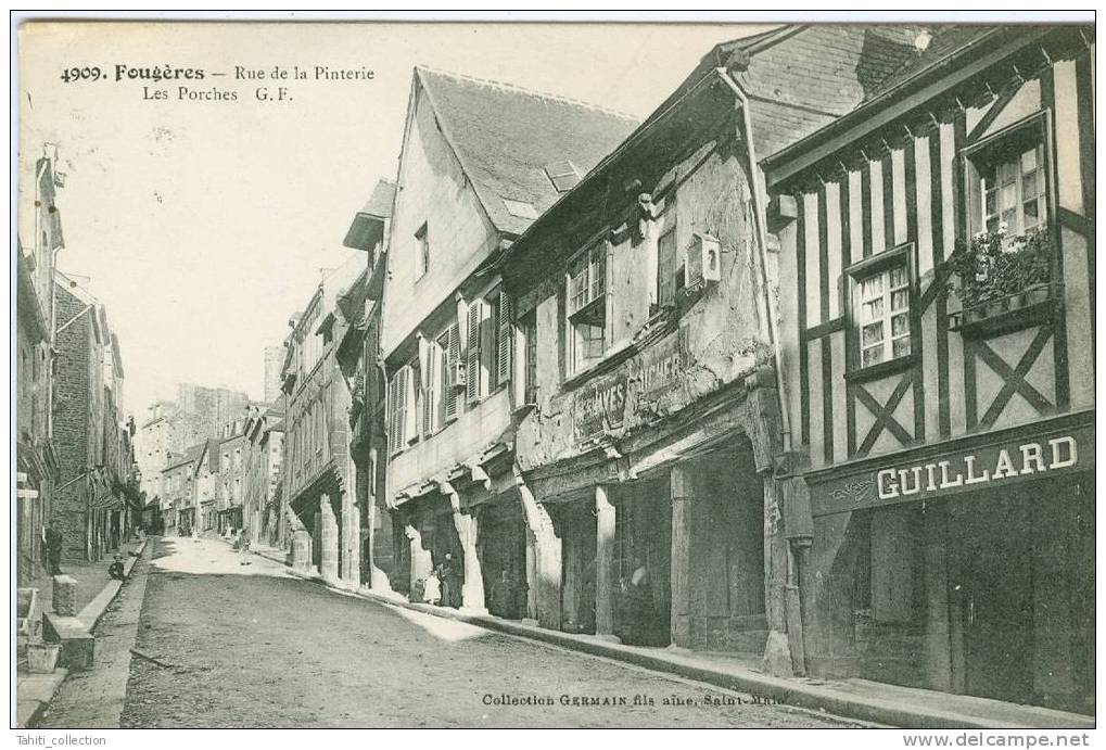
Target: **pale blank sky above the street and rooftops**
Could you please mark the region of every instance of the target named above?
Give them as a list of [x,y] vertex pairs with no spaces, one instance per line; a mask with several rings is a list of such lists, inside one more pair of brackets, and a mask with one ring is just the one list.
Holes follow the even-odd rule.
[[[311,296],[379,177],[394,178],[411,67],[425,64],[647,115],[717,42],[750,25],[114,23],[24,27],[23,158],[56,144],[62,270],[91,277],[121,340],[137,418],[178,382],[263,394],[262,350]],[[116,82],[116,64],[227,72]],[[109,80],[64,83],[70,66]],[[254,98],[236,65],[372,69],[371,82],[288,82]],[[269,83],[269,82],[262,82]],[[143,85],[169,101],[143,101]],[[52,153],[52,146],[51,146]]]

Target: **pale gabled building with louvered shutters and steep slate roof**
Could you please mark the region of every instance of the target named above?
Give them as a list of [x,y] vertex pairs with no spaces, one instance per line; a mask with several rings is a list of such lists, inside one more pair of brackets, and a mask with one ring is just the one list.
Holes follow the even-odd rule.
[[434,574],[447,606],[526,616],[528,539],[551,523],[514,479],[511,305],[483,270],[634,123],[422,69],[409,101],[380,331],[394,580],[421,601]]

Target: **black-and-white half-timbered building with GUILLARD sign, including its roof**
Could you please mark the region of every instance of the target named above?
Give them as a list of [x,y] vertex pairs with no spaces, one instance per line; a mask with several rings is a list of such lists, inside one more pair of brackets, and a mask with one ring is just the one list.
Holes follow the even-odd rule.
[[814,674],[1093,706],[1093,33],[922,31],[763,162]]

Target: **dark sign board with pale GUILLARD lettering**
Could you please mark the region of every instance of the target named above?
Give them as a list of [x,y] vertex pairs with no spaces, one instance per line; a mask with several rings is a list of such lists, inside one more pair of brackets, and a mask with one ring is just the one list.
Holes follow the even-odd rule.
[[1094,430],[1014,439],[924,460],[877,466],[824,483],[811,482],[815,515],[1006,487],[1094,468]]

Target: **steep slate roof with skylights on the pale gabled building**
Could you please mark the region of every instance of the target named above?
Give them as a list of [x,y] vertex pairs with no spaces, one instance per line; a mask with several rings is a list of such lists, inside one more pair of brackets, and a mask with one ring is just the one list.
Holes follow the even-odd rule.
[[425,67],[415,74],[492,223],[513,235],[533,219],[511,213],[504,199],[542,213],[563,195],[546,165],[568,159],[583,176],[637,125],[627,115],[508,84]]

